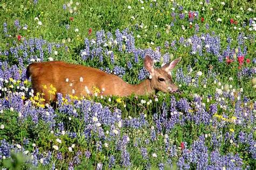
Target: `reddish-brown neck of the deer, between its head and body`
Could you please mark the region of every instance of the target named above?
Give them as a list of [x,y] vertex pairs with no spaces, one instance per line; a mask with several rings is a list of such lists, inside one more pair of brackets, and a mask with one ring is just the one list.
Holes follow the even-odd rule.
[[150,80],[146,79],[140,84],[131,85],[131,94],[132,93],[137,95],[147,95],[155,93],[155,90],[152,88]]

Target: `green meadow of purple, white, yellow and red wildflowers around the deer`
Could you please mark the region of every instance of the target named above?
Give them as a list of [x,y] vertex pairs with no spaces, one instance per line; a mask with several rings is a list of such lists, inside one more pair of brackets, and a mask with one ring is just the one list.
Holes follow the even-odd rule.
[[[255,169],[253,1],[1,1],[0,167]],[[150,54],[180,93],[34,94],[26,67],[63,60],[149,77]]]

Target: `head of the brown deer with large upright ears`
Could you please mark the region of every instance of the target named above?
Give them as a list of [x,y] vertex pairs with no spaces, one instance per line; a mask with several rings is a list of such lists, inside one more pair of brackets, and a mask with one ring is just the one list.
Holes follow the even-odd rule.
[[177,65],[181,58],[175,59],[172,62],[166,63],[161,68],[154,68],[154,61],[149,55],[145,56],[144,67],[150,73],[151,87],[156,91],[164,93],[174,93],[179,89],[173,83],[171,71]]

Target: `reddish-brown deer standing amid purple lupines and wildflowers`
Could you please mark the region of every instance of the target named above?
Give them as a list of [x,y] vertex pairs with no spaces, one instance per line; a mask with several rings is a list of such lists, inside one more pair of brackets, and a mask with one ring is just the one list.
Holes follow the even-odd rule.
[[[31,85],[35,93],[44,93],[45,103],[56,101],[57,93],[80,97],[89,94],[124,97],[132,94],[150,95],[158,91],[175,93],[179,89],[173,83],[171,72],[180,60],[181,58],[177,58],[161,68],[154,68],[153,59],[146,54],[144,67],[150,76],[139,84],[126,83],[117,75],[97,68],[64,61],[31,63],[26,69],[26,77],[27,79],[31,77]],[[45,93],[51,87],[55,88],[56,93],[53,95]]]

